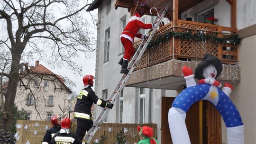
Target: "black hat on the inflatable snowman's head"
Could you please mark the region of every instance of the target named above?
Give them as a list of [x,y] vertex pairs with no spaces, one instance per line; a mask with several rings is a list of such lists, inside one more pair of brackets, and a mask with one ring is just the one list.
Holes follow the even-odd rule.
[[210,64],[214,65],[217,70],[217,74],[215,77],[215,79],[217,79],[217,77],[222,72],[222,63],[220,62],[220,60],[217,57],[214,57],[211,54],[205,54],[203,56],[202,62],[199,63],[195,69],[195,77],[198,80],[204,79],[204,77],[202,76],[203,69],[206,68],[207,66],[209,66]]

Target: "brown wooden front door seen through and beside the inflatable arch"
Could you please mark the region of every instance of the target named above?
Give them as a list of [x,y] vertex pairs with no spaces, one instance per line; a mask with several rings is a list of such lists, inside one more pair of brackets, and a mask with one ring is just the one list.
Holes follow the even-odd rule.
[[[162,97],[162,143],[173,144],[168,124],[168,111],[174,97]],[[221,144],[220,115],[209,101],[192,105],[186,116],[191,144]]]

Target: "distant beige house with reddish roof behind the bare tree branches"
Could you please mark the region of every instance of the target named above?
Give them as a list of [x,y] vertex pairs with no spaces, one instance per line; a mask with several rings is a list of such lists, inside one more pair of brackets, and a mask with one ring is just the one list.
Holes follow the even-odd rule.
[[62,77],[36,61],[35,66],[30,66],[29,70],[21,69],[20,78],[15,103],[18,109],[24,108],[27,111],[28,120],[49,121],[52,116],[63,114],[59,106],[68,106],[68,95],[72,91]]

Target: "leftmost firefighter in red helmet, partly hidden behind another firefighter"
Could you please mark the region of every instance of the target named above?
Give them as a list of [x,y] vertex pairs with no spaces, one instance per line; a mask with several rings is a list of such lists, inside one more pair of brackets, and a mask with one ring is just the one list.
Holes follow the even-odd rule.
[[60,131],[61,129],[61,116],[55,115],[51,118],[51,122],[53,124],[53,127],[48,129],[46,131],[46,135],[44,136],[43,143],[42,144],[49,144],[51,142],[52,137]]

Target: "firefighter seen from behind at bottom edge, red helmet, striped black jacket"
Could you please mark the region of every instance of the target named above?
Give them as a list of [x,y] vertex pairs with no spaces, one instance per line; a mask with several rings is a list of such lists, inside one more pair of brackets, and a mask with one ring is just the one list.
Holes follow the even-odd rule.
[[50,144],[84,144],[75,133],[70,133],[70,127],[70,119],[64,117],[61,121],[61,130],[54,135]]

